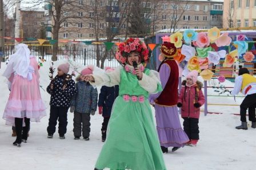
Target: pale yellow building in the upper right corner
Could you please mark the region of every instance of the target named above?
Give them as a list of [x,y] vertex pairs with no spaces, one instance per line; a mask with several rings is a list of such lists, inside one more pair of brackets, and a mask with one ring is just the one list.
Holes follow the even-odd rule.
[[256,27],[256,0],[225,0],[223,27]]

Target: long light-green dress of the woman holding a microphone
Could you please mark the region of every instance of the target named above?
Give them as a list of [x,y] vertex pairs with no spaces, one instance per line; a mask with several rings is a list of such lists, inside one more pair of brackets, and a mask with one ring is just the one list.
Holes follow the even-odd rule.
[[[145,69],[144,73],[149,75],[150,70]],[[158,84],[156,92],[161,90]],[[128,101],[124,95],[143,96],[144,101]],[[119,96],[113,105],[97,169],[166,169],[148,97],[149,92],[139,85],[137,77],[121,69]]]

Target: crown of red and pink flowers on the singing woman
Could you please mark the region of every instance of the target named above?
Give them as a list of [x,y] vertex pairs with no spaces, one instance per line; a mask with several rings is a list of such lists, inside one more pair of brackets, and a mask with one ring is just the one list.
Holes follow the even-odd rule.
[[118,45],[118,51],[115,53],[115,58],[122,64],[126,63],[126,57],[132,52],[139,53],[141,63],[149,60],[149,49],[147,45],[138,38],[129,38],[125,42]]

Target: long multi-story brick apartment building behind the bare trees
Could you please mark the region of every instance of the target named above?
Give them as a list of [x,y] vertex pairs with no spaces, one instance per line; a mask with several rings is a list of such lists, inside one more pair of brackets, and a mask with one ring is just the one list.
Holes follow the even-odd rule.
[[[132,17],[133,6],[131,11],[127,11],[127,3],[115,3],[111,5],[106,1],[99,1],[101,9],[97,13],[94,11],[93,1],[77,0],[78,8],[73,11],[66,11],[63,15],[71,15],[76,13],[76,18],[67,20],[61,25],[59,31],[59,39],[95,39],[104,38],[107,31],[113,31],[115,34],[125,35],[133,34],[134,23],[122,22],[125,17]],[[133,3],[138,3],[134,1]],[[202,28],[211,27],[222,28],[223,0],[147,0],[141,2],[145,22],[138,22],[139,27],[147,24],[147,33],[163,30],[166,28]],[[69,3],[67,3],[67,9]],[[79,8],[79,6],[81,6]],[[138,6],[137,6],[138,7]],[[107,13],[111,10],[112,16]],[[126,13],[126,14],[125,14]],[[97,19],[96,19],[97,18]],[[121,23],[122,22],[122,23]],[[111,29],[107,29],[111,26]],[[96,29],[97,28],[97,29]],[[138,29],[137,27],[135,29]],[[135,30],[136,31],[136,30]]]

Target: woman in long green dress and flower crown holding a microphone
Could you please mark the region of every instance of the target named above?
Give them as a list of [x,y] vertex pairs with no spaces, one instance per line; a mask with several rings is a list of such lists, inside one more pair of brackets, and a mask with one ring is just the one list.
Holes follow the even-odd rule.
[[[165,170],[149,94],[162,90],[159,75],[144,68],[149,50],[139,39],[121,43],[116,53],[122,66],[86,77],[95,86],[119,85],[107,127],[107,139],[95,169]],[[138,64],[134,69],[133,63]],[[135,66],[136,67],[136,66]]]

